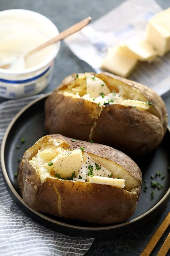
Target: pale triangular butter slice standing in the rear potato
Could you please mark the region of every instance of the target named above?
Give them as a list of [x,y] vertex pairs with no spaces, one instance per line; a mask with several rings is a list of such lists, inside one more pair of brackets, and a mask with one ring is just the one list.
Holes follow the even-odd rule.
[[88,73],[86,73],[86,88],[87,94],[89,94],[91,98],[99,97],[100,93],[104,95],[111,93],[103,80]]

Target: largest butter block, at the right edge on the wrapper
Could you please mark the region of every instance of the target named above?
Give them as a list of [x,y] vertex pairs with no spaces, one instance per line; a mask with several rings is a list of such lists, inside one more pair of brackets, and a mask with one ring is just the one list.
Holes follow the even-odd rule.
[[155,14],[149,20],[147,40],[159,51],[160,56],[170,50],[170,8]]

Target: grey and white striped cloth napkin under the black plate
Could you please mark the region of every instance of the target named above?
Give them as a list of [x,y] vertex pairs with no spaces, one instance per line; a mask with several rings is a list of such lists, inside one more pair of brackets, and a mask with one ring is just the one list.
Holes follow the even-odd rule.
[[[0,104],[0,146],[12,118],[36,95]],[[11,199],[0,165],[0,255],[70,256],[84,255],[94,238],[74,238],[41,226],[28,217]]]

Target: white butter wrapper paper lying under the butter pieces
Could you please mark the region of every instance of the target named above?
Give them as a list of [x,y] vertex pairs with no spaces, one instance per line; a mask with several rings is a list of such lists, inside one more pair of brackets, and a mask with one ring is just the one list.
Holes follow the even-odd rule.
[[[78,58],[100,72],[108,47],[131,37],[145,37],[148,19],[161,10],[154,0],[128,0],[69,36],[65,42]],[[157,57],[151,64],[140,62],[128,78],[143,83],[162,95],[170,89],[169,71],[170,53]]]

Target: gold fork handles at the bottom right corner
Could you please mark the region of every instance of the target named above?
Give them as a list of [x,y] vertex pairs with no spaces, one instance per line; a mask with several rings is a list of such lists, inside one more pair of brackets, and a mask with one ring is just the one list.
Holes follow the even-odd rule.
[[[168,215],[166,216],[164,221],[161,223],[160,227],[156,230],[153,237],[151,238],[151,240],[149,241],[149,243],[147,244],[145,249],[142,251],[140,256],[149,256],[150,255],[153,248],[158,243],[159,239],[161,238],[161,236],[163,235],[163,233],[165,232],[165,230],[167,229],[169,224],[170,224],[170,212],[168,213]],[[165,256],[166,253],[168,252],[169,248],[170,248],[170,233],[168,234],[167,238],[165,239],[157,256]]]

